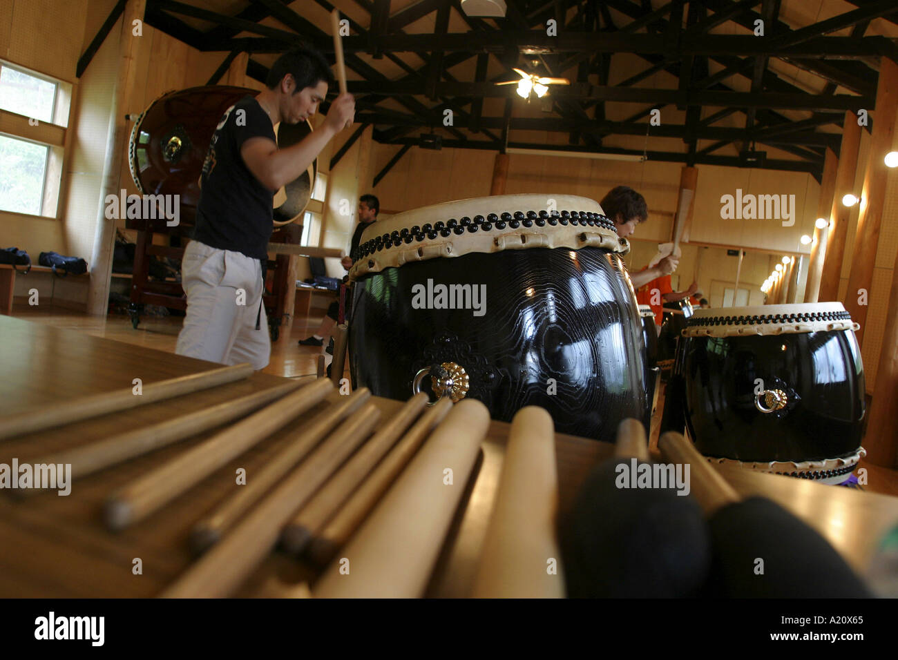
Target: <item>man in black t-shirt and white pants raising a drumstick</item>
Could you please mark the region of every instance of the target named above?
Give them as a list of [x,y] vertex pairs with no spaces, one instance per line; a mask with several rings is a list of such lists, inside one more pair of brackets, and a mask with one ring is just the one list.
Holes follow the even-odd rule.
[[267,89],[225,110],[203,163],[197,226],[181,262],[188,306],[178,355],[226,365],[249,362],[255,369],[269,364],[262,264],[268,259],[274,194],[352,125],[355,100],[340,94],[321,126],[285,149],[277,148],[274,127],[311,117],[333,81],[320,53],[295,48],[271,67]]

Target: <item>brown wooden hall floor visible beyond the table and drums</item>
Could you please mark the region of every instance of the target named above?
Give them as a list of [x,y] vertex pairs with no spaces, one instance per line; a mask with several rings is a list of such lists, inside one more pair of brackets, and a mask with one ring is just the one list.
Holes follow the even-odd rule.
[[[315,315],[319,314],[319,315]],[[147,348],[174,353],[178,341],[182,317],[153,317],[143,316],[140,325],[134,330],[131,321],[126,315],[110,315],[105,319],[88,316],[83,312],[73,312],[61,307],[31,307],[27,304],[14,304],[13,316],[48,323],[58,328],[68,330],[80,330],[95,337],[115,339],[128,344],[136,344]],[[271,347],[271,360],[269,366],[263,369],[263,373],[295,378],[298,376],[313,375],[318,365],[318,356],[323,348],[299,346],[299,339],[310,336],[321,323],[324,310],[313,310],[313,316],[308,319],[296,319],[289,336],[282,332]],[[345,371],[348,377],[348,362]],[[650,446],[656,451],[657,428],[660,422],[661,409],[664,406],[664,396],[658,397],[658,408],[655,418],[652,419],[654,433],[650,438]],[[859,463],[861,468],[867,469],[867,485],[862,488],[875,493],[898,497],[898,471],[873,465],[866,461]],[[858,471],[855,472],[858,474]]]

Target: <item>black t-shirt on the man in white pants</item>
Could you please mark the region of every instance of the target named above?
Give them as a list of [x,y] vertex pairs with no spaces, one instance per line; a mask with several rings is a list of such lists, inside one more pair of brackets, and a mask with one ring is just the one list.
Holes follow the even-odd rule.
[[225,110],[203,163],[193,237],[219,250],[268,259],[274,192],[243,163],[240,147],[251,137],[277,142],[268,114],[251,96]]

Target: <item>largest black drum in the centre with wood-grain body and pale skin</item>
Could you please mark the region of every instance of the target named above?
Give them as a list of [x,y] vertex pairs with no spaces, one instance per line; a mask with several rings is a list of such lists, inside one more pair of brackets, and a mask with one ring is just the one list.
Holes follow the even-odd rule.
[[355,383],[472,397],[506,421],[538,405],[560,432],[613,440],[645,411],[628,250],[579,197],[465,199],[376,222],[350,270]]

